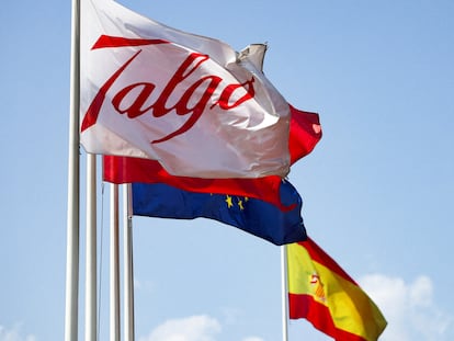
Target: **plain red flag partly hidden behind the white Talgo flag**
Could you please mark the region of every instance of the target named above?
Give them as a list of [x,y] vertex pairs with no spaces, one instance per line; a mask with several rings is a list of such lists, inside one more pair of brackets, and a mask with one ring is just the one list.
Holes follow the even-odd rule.
[[[321,138],[319,116],[298,111],[292,105],[288,149],[292,163],[308,155]],[[258,179],[201,179],[169,174],[158,161],[138,158],[104,156],[104,180],[113,183],[167,183],[181,190],[260,198],[282,209],[280,177]]]

